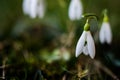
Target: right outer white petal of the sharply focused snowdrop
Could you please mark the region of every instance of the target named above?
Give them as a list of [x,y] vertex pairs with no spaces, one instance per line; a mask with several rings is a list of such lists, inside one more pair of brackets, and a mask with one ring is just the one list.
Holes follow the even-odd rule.
[[95,44],[90,31],[87,31],[87,45],[89,55],[93,59],[95,57]]

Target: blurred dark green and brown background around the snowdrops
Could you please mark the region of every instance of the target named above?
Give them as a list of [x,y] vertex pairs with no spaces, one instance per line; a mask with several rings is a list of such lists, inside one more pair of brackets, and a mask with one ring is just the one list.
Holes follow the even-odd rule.
[[[25,15],[22,2],[0,0],[0,65],[5,61],[6,80],[76,80],[76,65],[80,62],[84,69],[87,63],[85,59],[89,60],[84,55],[79,57],[80,60],[74,56],[85,20],[69,20],[70,0],[46,0],[43,19],[31,19]],[[99,26],[103,18],[102,11],[105,8],[108,10],[113,41],[111,45],[102,45],[98,36],[94,37],[97,51],[95,60],[120,77],[120,1],[82,0],[82,3],[84,13],[98,16]],[[99,31],[99,26],[92,33]],[[2,72],[3,69],[0,70],[0,76]],[[97,76],[97,80],[112,80],[111,75],[103,74],[100,74],[102,78],[96,74],[92,76]],[[96,80],[93,77],[91,80]],[[86,76],[82,80],[87,80]]]

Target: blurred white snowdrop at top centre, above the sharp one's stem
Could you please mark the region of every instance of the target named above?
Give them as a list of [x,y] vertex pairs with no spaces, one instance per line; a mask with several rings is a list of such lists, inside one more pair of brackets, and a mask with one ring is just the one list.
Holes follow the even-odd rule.
[[79,20],[82,12],[82,3],[79,0],[71,0],[68,12],[70,20]]

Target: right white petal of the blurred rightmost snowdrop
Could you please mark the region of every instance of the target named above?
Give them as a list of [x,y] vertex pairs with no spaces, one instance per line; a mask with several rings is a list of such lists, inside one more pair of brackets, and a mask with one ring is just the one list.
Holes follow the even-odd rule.
[[112,32],[111,32],[111,29],[110,29],[110,24],[108,22],[104,23],[104,26],[105,26],[105,39],[106,39],[106,42],[108,44],[111,43],[112,41]]

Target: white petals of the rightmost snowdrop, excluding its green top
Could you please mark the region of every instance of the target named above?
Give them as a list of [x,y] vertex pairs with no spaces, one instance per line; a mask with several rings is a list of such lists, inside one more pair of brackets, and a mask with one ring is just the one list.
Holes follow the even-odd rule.
[[99,33],[99,39],[101,43],[108,43],[110,44],[112,41],[112,32],[110,29],[110,24],[109,22],[103,22],[100,33]]

